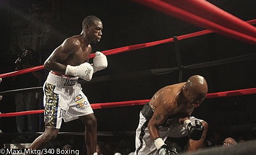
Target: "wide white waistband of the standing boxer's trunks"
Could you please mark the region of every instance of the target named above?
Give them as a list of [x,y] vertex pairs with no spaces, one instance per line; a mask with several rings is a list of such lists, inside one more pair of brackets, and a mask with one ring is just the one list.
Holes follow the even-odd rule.
[[49,72],[46,82],[58,87],[74,86],[78,83],[78,77],[59,76],[53,72]]

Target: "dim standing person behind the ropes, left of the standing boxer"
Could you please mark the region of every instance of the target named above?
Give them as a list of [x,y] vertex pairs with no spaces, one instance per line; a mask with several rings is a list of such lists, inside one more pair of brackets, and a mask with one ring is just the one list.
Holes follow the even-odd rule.
[[[16,59],[16,69],[26,69],[37,65],[35,51],[32,49],[23,49],[22,54]],[[42,74],[38,71],[29,72],[13,77],[13,83],[16,89],[32,88],[40,86]],[[15,95],[16,112],[28,110],[37,110],[39,106],[39,93],[35,91],[21,92]],[[21,115],[16,116],[16,125],[18,132],[37,132],[38,131],[38,115]]]

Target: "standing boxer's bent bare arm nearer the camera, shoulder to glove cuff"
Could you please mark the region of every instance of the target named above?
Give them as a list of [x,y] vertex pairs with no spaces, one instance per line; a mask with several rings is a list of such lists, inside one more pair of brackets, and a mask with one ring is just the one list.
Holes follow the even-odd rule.
[[50,71],[65,74],[67,57],[79,50],[79,44],[73,38],[67,38],[44,62],[44,68]]

